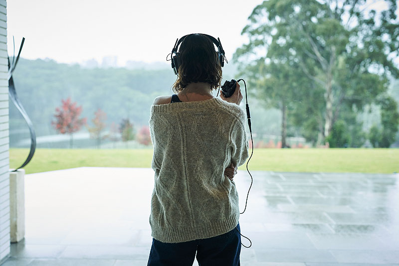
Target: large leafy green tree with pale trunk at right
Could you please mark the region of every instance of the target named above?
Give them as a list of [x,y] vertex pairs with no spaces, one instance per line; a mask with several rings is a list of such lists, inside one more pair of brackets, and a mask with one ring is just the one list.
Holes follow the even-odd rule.
[[[388,6],[386,10],[375,10],[366,0],[263,1],[242,30],[249,42],[236,50],[234,58],[242,73],[267,82],[274,77],[270,86],[282,94],[281,84],[288,80],[272,68],[285,65],[279,69],[291,78],[293,69],[300,70],[308,86],[295,89],[300,106],[294,108],[307,117],[295,114],[293,123],[301,124],[305,135],[313,132],[307,134],[313,141],[314,131],[319,131],[316,142],[322,143],[344,109],[357,112],[376,103],[387,92],[388,77],[399,77],[393,61],[399,50],[397,2],[379,2]],[[256,85],[259,91],[270,91],[263,83]],[[310,95],[315,98],[308,101]],[[281,98],[279,93],[266,96],[266,102]]]

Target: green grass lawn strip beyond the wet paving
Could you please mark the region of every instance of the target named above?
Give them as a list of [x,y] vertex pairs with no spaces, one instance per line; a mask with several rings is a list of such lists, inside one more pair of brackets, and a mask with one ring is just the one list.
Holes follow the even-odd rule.
[[[251,151],[250,151],[251,152]],[[27,148],[10,148],[10,168],[22,164]],[[36,149],[25,172],[82,166],[151,167],[152,149]],[[246,164],[239,167],[246,169]],[[249,170],[282,172],[399,172],[399,149],[254,149]]]

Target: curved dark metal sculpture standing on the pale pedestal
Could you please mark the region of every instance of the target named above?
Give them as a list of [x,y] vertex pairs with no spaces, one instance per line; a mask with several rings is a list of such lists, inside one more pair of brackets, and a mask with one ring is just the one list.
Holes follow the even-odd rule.
[[[12,41],[14,41],[14,38],[12,38]],[[16,56],[16,59],[15,59],[15,43],[13,43],[13,45],[14,45],[14,53],[13,53],[13,56],[12,56],[12,62],[11,63],[10,63],[9,57],[8,57],[8,76],[7,76],[7,78],[8,78],[8,94],[9,94],[9,97],[11,98],[12,102],[14,103],[16,109],[18,109],[19,113],[21,113],[23,119],[25,120],[25,122],[26,122],[26,124],[28,125],[28,128],[29,128],[29,132],[30,132],[30,151],[29,151],[29,155],[26,158],[26,160],[24,161],[24,163],[22,163],[21,166],[19,166],[18,168],[16,168],[13,171],[16,171],[19,168],[22,168],[23,166],[28,164],[28,162],[32,159],[34,151],[36,149],[36,133],[34,132],[33,124],[30,121],[28,115],[26,114],[26,111],[23,108],[22,103],[19,101],[18,97],[16,96],[14,81],[12,80],[12,72],[15,70],[15,66],[16,66],[16,63],[18,62],[19,55],[21,53],[24,41],[25,41],[25,38],[22,37],[21,46],[19,47],[19,52],[18,52],[18,55]]]

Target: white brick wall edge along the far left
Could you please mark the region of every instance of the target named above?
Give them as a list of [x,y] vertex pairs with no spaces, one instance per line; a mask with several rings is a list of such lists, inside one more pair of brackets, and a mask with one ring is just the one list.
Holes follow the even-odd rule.
[[6,6],[6,0],[0,0],[0,264],[10,252]]

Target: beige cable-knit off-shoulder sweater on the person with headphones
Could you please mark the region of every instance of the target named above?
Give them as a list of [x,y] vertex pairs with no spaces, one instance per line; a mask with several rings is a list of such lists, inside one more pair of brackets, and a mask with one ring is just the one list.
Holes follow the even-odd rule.
[[232,230],[238,224],[238,194],[224,169],[248,158],[244,111],[218,98],[153,105],[149,123],[152,236],[177,243]]

